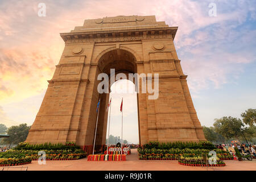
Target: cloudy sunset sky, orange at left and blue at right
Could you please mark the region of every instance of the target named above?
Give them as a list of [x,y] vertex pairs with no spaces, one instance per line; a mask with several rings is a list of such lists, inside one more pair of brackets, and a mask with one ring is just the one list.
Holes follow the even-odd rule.
[[[46,5],[45,17],[38,16],[39,3]],[[209,16],[210,3],[216,5],[216,16]],[[60,32],[82,26],[85,19],[117,15],[155,15],[179,27],[174,43],[201,125],[240,117],[256,105],[255,7],[255,1],[242,0],[1,0],[0,123],[34,122],[64,49]],[[137,143],[135,94],[113,94],[113,107],[119,107],[121,97],[133,101],[126,105],[124,138]],[[112,123],[120,121],[120,113],[112,116]],[[113,124],[110,134],[119,136],[120,128],[120,122]]]

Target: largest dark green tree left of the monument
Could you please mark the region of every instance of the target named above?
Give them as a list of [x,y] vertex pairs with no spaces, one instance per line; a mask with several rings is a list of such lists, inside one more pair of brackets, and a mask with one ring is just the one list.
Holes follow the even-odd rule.
[[11,126],[7,129],[7,134],[10,135],[9,138],[4,138],[3,143],[8,144],[18,144],[26,140],[30,126],[26,123],[20,124],[19,126]]

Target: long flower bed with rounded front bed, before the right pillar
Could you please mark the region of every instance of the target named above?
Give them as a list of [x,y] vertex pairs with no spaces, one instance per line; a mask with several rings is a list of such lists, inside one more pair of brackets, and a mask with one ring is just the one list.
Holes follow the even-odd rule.
[[[177,148],[168,148],[171,146]],[[216,152],[217,155],[217,164],[211,166],[225,166],[222,160],[233,159],[233,156],[228,151],[214,148],[210,142],[175,142],[167,144],[149,142],[138,148],[139,159],[141,160],[179,160],[179,164],[185,166],[206,166],[207,164],[202,164],[203,156],[208,160],[212,157],[212,154],[209,153],[210,151]]]

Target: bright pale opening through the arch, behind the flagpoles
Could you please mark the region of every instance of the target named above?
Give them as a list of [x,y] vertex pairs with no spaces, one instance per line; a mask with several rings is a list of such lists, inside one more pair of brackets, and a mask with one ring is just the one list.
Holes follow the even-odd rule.
[[[111,86],[109,100],[110,98],[112,99],[112,110],[111,113],[110,110],[108,111],[108,127],[106,131],[106,139],[109,139],[109,144],[121,142],[121,136],[124,143],[138,144],[138,105],[134,83],[129,80],[115,81]],[[123,131],[121,123],[122,114],[120,111],[122,99]],[[118,141],[118,137],[120,141]]]

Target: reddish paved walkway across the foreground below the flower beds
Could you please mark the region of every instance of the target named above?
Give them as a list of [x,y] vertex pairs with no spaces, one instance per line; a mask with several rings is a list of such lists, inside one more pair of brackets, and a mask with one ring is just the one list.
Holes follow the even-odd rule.
[[[126,159],[126,161],[87,161],[87,158],[80,160],[47,160],[45,165],[39,165],[38,161],[33,160],[31,164],[24,166],[28,167],[28,171],[207,171],[206,167],[182,166],[177,163],[177,160],[139,160],[136,149],[132,149],[131,155],[127,155]],[[243,160],[242,162],[225,160],[225,163],[225,167],[209,167],[208,170],[256,171],[255,159],[253,161]],[[0,167],[1,169],[2,167]]]

